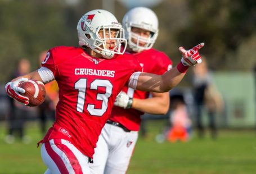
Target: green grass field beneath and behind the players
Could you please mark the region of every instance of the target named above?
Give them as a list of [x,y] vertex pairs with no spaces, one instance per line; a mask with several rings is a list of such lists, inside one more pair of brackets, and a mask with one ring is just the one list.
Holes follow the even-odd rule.
[[[194,136],[187,143],[156,143],[162,121],[150,121],[149,136],[140,138],[128,174],[136,173],[256,173],[256,134],[251,131],[219,131],[217,140]],[[3,141],[6,125],[0,123],[0,173],[43,173],[37,141],[42,135],[37,123],[29,123],[32,143]]]

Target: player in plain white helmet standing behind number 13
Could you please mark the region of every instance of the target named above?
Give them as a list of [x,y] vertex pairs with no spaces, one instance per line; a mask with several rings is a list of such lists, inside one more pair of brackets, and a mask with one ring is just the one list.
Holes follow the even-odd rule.
[[[152,48],[158,36],[158,17],[146,7],[135,7],[123,17],[126,52],[137,58],[143,72],[164,74],[172,61],[163,52]],[[89,164],[94,174],[125,173],[128,168],[144,112],[164,115],[169,109],[169,93],[151,93],[125,86],[118,94],[111,116],[101,131]]]

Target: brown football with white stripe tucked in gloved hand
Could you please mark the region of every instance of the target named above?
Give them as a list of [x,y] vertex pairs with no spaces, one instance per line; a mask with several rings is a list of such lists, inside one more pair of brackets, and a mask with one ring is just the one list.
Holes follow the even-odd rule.
[[25,89],[25,93],[22,95],[29,98],[27,106],[38,106],[46,98],[46,89],[41,81],[28,80],[19,84],[19,86]]

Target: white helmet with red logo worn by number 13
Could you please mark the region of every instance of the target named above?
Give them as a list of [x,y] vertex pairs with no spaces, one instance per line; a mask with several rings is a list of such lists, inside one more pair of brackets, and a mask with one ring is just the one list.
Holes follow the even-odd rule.
[[[104,31],[104,38],[100,38],[98,32]],[[124,38],[124,29],[116,17],[106,10],[92,10],[87,12],[79,20],[77,25],[79,45],[91,48],[93,51],[100,53],[102,57],[110,59],[114,54],[123,54],[127,45]],[[105,30],[116,31],[115,38],[105,35]],[[110,38],[109,38],[110,37]],[[116,44],[113,49],[106,48],[106,40],[115,40]],[[124,43],[124,49],[121,49],[121,43]]]

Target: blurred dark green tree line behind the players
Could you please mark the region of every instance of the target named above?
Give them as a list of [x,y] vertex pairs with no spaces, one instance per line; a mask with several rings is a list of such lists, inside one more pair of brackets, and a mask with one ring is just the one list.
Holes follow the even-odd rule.
[[[103,8],[102,1],[107,0],[0,0],[0,83],[9,80],[20,58],[30,59],[35,70],[41,51],[78,46],[78,20],[89,10]],[[163,0],[152,7],[160,28],[155,48],[176,65],[179,46],[191,48],[204,42],[201,53],[214,70],[251,71],[256,64],[255,7],[254,0]],[[114,2],[120,22],[127,10]]]

